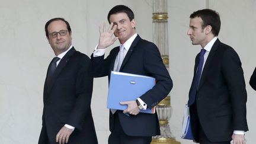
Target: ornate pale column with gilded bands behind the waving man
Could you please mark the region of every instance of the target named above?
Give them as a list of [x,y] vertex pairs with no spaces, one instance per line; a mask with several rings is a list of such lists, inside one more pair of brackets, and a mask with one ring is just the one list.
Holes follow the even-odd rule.
[[[153,42],[160,50],[162,60],[169,71],[168,13],[167,0],[153,0]],[[152,137],[151,144],[180,144],[171,133],[168,120],[171,118],[171,96],[157,106],[161,135]]]

